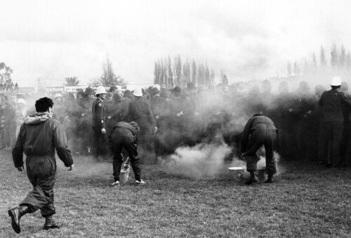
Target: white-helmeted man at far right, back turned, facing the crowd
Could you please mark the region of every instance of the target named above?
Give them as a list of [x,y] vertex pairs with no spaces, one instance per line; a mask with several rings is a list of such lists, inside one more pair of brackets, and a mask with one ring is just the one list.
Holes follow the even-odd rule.
[[[319,99],[322,121],[319,127],[318,159],[327,167],[340,166],[340,143],[343,135],[343,110],[351,110],[351,101],[340,91],[341,79],[333,77],[331,90]],[[330,146],[330,152],[328,152]],[[330,158],[328,159],[328,154]]]

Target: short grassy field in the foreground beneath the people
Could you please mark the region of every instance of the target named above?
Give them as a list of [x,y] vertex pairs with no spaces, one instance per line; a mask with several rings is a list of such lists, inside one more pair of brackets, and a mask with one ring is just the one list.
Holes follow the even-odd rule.
[[[143,166],[147,185],[112,187],[112,164],[58,160],[56,220],[21,220],[21,237],[351,237],[351,168],[285,163],[273,184],[246,186],[229,175],[192,180]],[[31,190],[10,152],[0,152],[0,237],[16,237],[7,210]]]

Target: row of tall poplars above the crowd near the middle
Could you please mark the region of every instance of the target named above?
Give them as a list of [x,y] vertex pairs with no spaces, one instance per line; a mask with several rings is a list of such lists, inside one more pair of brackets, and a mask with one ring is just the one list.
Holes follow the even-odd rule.
[[162,88],[185,88],[192,83],[194,86],[209,86],[213,84],[215,73],[209,70],[207,63],[197,63],[185,60],[182,63],[180,55],[173,58],[162,58],[154,64],[154,84]]

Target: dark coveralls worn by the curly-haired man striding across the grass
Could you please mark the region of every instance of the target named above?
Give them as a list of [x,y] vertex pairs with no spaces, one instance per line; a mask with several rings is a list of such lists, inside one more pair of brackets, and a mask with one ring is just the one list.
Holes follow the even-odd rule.
[[33,213],[41,210],[44,218],[55,214],[53,206],[53,185],[55,184],[56,159],[58,157],[66,167],[72,166],[71,152],[68,150],[67,138],[61,124],[55,119],[34,121],[22,124],[12,156],[15,167],[23,166],[25,152],[27,176],[33,190],[20,203],[29,207]]

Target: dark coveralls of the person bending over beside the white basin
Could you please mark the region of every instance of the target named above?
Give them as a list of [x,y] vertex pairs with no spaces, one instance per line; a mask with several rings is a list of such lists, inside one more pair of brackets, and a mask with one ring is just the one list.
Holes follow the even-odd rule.
[[241,138],[241,152],[244,152],[247,171],[257,170],[258,157],[256,152],[264,145],[267,174],[277,173],[273,154],[276,140],[277,128],[269,117],[256,116],[249,119]]

